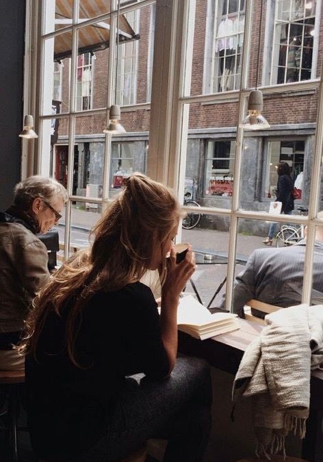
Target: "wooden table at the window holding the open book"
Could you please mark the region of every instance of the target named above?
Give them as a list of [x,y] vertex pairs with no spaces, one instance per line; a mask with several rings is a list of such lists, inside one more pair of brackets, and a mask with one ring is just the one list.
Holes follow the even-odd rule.
[[[196,340],[179,332],[179,351],[185,355],[206,359],[214,368],[235,374],[248,344],[263,327],[238,319],[238,331],[217,335],[207,340]],[[307,432],[302,443],[302,458],[310,462],[323,461],[323,371],[311,374],[311,404]]]

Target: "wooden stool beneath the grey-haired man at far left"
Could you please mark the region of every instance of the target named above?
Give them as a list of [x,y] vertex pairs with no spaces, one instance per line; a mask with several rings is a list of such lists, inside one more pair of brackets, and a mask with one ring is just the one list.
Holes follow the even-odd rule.
[[8,447],[12,461],[18,461],[17,418],[19,411],[18,387],[25,383],[25,370],[0,370],[0,386],[8,399],[8,426],[5,427]]

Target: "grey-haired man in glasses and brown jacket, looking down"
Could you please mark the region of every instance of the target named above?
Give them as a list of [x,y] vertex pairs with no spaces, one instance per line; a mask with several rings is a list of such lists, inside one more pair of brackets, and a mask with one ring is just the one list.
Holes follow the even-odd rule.
[[0,370],[24,367],[19,342],[31,301],[49,277],[47,248],[36,237],[61,218],[67,192],[52,178],[29,177],[14,188],[14,203],[0,212]]

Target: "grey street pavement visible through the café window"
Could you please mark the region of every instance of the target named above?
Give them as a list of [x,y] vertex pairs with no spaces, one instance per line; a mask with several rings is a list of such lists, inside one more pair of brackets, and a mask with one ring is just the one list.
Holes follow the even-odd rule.
[[[95,211],[79,210],[73,206],[71,214],[71,235],[70,244],[78,248],[86,248],[89,242],[90,229],[99,219],[100,215]],[[60,242],[64,242],[64,214],[57,231],[60,234]],[[203,250],[205,253],[227,252],[229,248],[229,232],[216,231],[211,229],[183,229],[182,242],[190,242],[193,248]],[[237,255],[248,257],[256,248],[263,248],[263,237],[238,234],[237,236]],[[244,266],[237,264],[235,274],[243,270]],[[227,264],[198,264],[192,280],[201,296],[204,305],[208,305],[218,285],[224,280],[227,274]],[[192,292],[192,285],[188,283],[188,292]],[[222,295],[225,291],[225,284],[212,307],[220,305]]]

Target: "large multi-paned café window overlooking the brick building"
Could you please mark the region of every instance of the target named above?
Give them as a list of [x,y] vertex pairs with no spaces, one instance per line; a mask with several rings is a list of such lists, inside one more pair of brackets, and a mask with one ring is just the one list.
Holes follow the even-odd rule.
[[[306,224],[313,243],[311,233],[313,238],[320,227],[313,217],[323,208],[323,127],[316,125],[320,87],[314,79],[323,55],[321,2],[263,0],[260,24],[260,1],[168,0],[167,8],[155,8],[151,0],[125,0],[118,53],[116,38],[109,37],[116,31],[116,1],[111,14],[109,2],[99,0],[41,3],[46,21],[35,97],[40,138],[31,162],[37,172],[53,172],[68,187],[66,244],[84,244],[88,231],[80,229],[90,229],[120,191],[122,177],[135,170],[168,183],[180,201],[196,201],[200,220],[195,229],[179,229],[180,238],[192,242],[200,255],[225,257],[220,268],[198,266],[193,280],[205,290],[203,300],[214,292],[215,278],[217,287],[227,278],[217,297],[225,292],[231,309],[234,277],[250,253],[263,248],[270,220],[278,220],[278,227]],[[63,12],[64,19],[59,18]],[[73,17],[77,12],[80,17]],[[259,83],[266,82],[263,114],[270,128],[244,131],[240,123],[255,88],[258,51]],[[54,62],[64,62],[61,95]],[[111,137],[103,129],[115,90],[127,133]],[[56,114],[53,94],[62,101]],[[309,208],[311,218],[298,216],[297,207],[290,216],[270,215],[275,166],[281,161],[292,167],[293,181],[302,174],[297,205]],[[64,227],[60,232],[64,240]],[[307,303],[312,244],[308,248]]]

